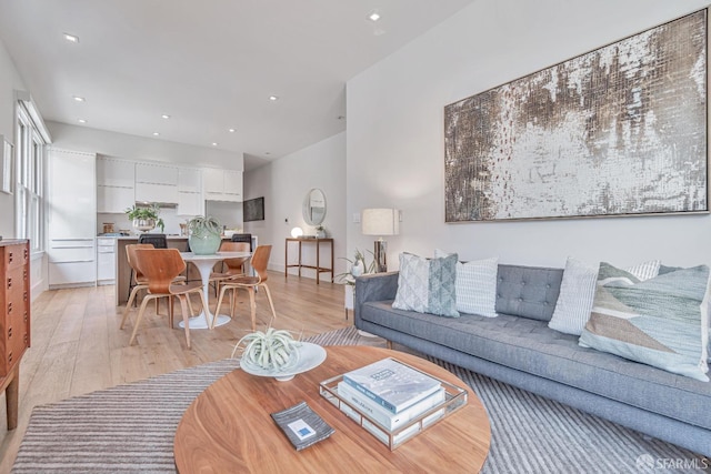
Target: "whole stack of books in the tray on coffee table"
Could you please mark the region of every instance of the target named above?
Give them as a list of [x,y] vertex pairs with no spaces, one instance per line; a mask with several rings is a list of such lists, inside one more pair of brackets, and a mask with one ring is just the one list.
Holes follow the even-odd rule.
[[[445,401],[442,383],[390,357],[343,374],[338,394],[348,403],[341,411],[353,418],[364,414],[356,421],[385,444],[398,444],[444,416],[444,407],[428,413]],[[421,425],[410,423],[425,413]]]

